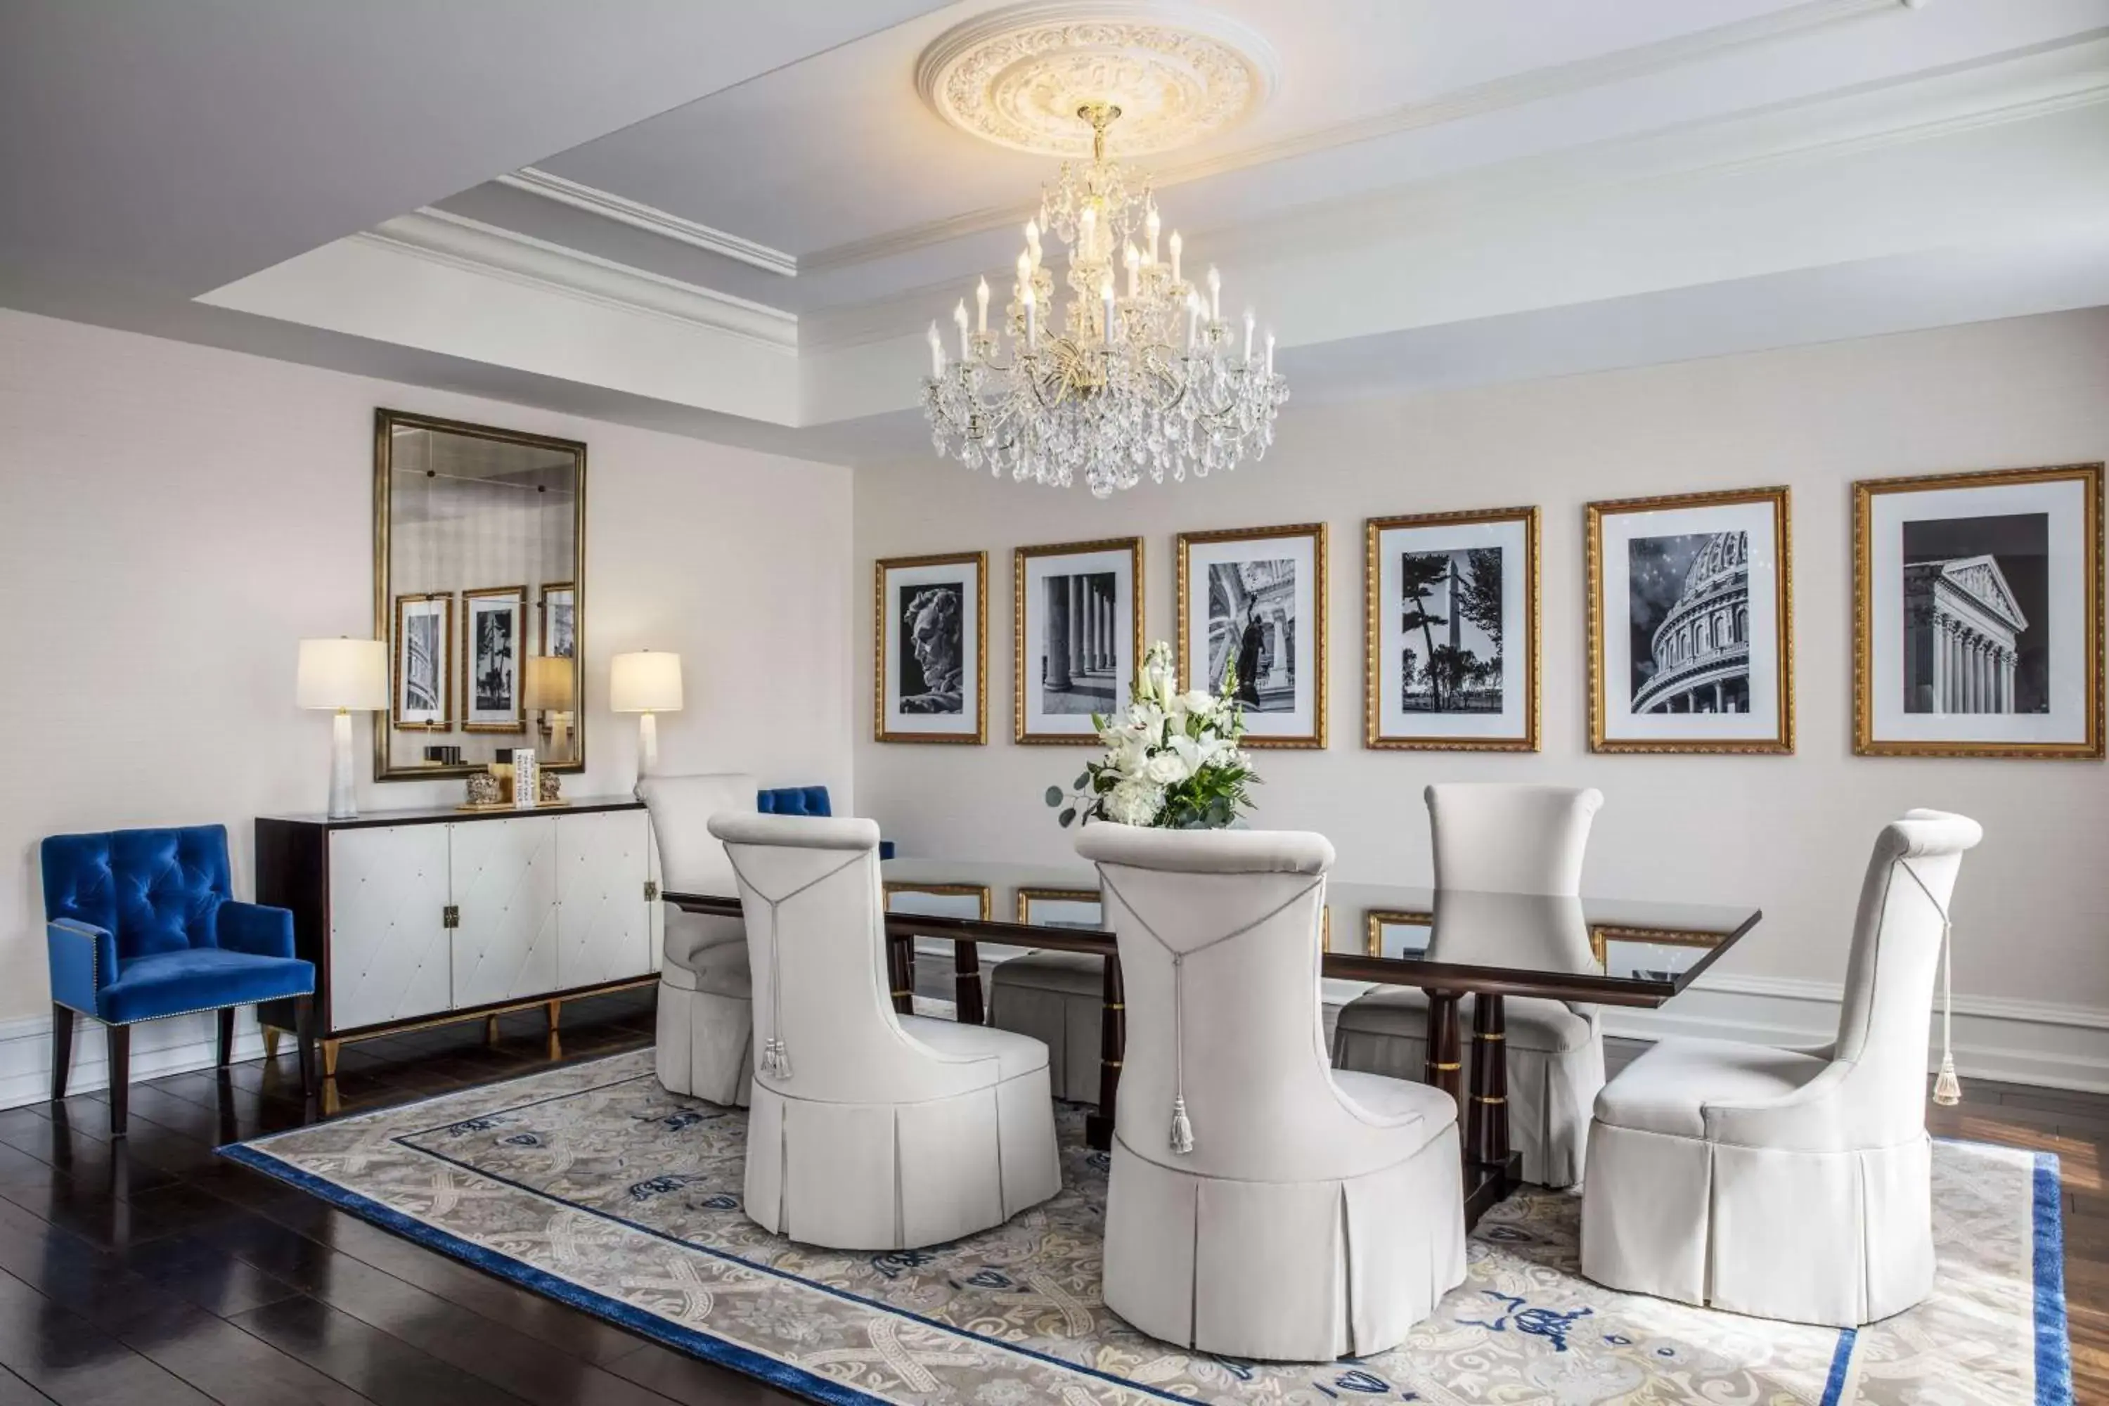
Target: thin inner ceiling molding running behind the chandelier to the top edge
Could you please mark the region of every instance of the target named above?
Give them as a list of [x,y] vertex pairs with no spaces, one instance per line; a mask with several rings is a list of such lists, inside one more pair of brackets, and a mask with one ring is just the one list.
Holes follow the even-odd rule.
[[[1871,15],[1904,8],[1915,6],[1907,0],[1805,0],[1803,4],[1786,11],[1715,25],[1713,30],[1700,30],[1696,34],[1681,34],[1651,44],[1637,44],[1632,48],[1597,55],[1592,59],[1537,67],[1508,78],[1493,78],[1426,103],[1394,108],[1392,112],[1384,112],[1373,118],[1320,126],[1295,137],[1282,137],[1278,141],[1249,145],[1202,160],[1162,164],[1149,173],[1149,181],[1156,190],[1168,190],[1173,185],[1185,185],[1213,175],[1227,175],[1232,171],[1244,171],[1295,156],[1310,156],[1360,141],[1375,141],[1379,137],[1438,126],[1443,122],[1457,122],[1508,108],[1525,108],[1552,97],[1601,89],[1611,82],[1645,78],[1691,63],[1702,63],[1738,48],[1774,44],[1786,38],[1799,38],[1818,30],[1866,19]],[[799,268],[808,274],[818,274],[850,268],[854,263],[892,259],[896,255],[915,253],[917,249],[945,245],[970,234],[985,234],[989,230],[1017,226],[1033,209],[1038,209],[1038,204],[985,207],[920,226],[890,230],[871,238],[831,245],[806,255],[799,261]]]

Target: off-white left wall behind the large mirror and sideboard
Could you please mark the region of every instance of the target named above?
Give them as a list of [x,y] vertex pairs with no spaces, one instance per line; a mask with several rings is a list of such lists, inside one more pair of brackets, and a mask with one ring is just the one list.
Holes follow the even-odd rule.
[[[586,441],[593,710],[569,795],[628,788],[607,660],[652,647],[688,675],[662,769],[850,803],[850,470],[0,312],[0,1102],[6,1020],[49,1010],[44,835],[219,820],[247,896],[251,820],[323,807],[329,717],[293,706],[295,641],[373,628],[382,405]],[[365,721],[359,763],[361,807],[462,790],[375,784]]]

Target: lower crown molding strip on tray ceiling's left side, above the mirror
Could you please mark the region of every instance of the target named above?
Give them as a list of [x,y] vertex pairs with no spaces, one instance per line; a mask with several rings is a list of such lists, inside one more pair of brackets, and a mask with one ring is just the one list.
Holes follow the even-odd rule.
[[422,209],[352,236],[449,268],[504,278],[622,312],[641,312],[797,354],[797,318],[780,308],[717,293],[628,263],[500,230],[481,219]]

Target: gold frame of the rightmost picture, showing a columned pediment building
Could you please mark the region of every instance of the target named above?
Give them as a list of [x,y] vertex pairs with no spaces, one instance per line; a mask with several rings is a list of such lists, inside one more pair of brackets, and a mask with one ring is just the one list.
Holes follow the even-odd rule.
[[[2075,742],[2042,742],[2042,740],[1987,740],[1987,738],[1955,738],[1955,740],[1928,740],[1928,738],[1879,738],[1877,717],[1875,717],[1875,504],[1888,495],[1907,493],[1947,493],[1947,491],[1968,491],[1968,489],[2006,489],[2006,487],[2029,487],[2042,483],[2079,483],[2082,485],[2082,521],[2079,521],[2079,544],[2082,544],[2082,656],[2086,670],[2086,736]],[[2103,759],[2103,464],[2054,464],[2046,468],[1993,468],[1974,472],[1953,472],[1953,474],[1913,474],[1904,479],[1862,479],[1852,485],[1854,510],[1852,510],[1852,561],[1854,561],[1854,594],[1852,594],[1852,689],[1854,689],[1854,744],[1852,750],[1860,757],[1993,757],[2012,761],[2101,761]],[[2046,542],[2048,550],[2048,542]],[[1993,563],[1997,571],[1997,559]],[[1999,578],[2006,580],[2004,575]],[[2044,586],[2046,597],[2050,584]],[[1900,662],[1900,668],[1902,662]],[[1909,672],[1907,672],[1909,677]],[[1892,683],[1902,683],[1902,679],[1892,679]],[[2008,675],[2004,681],[1993,685],[1993,698],[1999,698],[1999,689],[2012,694],[2016,681]],[[1997,712],[1997,710],[1995,710]],[[1982,715],[1982,712],[1980,712]],[[1955,717],[1970,717],[1966,710],[1957,710]]]

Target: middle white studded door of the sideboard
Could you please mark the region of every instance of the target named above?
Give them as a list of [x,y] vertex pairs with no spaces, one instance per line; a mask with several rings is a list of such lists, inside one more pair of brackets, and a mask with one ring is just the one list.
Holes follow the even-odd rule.
[[449,824],[453,1005],[525,1001],[557,989],[557,820]]

